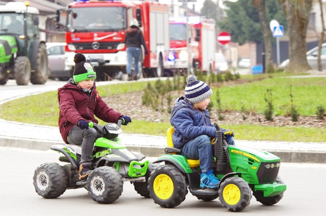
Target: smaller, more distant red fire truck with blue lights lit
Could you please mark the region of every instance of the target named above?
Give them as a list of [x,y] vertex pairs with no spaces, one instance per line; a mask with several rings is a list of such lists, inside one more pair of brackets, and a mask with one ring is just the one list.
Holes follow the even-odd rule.
[[188,17],[188,41],[186,39],[186,18],[170,18],[170,51],[168,65],[170,69],[186,71],[200,69],[203,72],[214,70],[215,21],[199,16]]

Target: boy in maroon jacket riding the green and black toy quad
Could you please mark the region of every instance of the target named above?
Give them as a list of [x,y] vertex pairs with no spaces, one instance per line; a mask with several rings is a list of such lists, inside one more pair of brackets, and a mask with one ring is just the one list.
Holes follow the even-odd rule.
[[74,62],[73,78],[58,89],[59,130],[66,144],[82,144],[79,179],[86,179],[92,172],[94,143],[100,137],[94,128],[89,128],[89,122],[98,123],[94,115],[105,122],[117,123],[121,119],[123,125],[131,119],[114,111],[101,99],[94,83],[96,72],[82,53],[76,53]]

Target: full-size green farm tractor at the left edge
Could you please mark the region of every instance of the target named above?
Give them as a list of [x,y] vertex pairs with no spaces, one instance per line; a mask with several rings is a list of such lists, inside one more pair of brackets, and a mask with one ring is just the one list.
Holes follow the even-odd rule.
[[0,6],[0,85],[44,84],[49,76],[45,42],[40,40],[39,11],[29,2]]

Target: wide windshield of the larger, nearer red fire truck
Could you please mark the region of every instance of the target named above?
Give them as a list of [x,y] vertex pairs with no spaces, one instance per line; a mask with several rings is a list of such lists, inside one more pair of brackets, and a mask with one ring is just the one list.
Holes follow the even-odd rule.
[[70,32],[113,32],[126,28],[126,8],[123,7],[71,8],[68,11]]

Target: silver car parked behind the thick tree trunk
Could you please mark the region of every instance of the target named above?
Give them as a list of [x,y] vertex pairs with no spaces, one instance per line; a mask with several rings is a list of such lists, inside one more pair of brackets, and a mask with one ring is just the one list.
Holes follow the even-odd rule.
[[[307,51],[307,61],[308,64],[312,67],[314,70],[318,70],[318,46],[310,49]],[[326,70],[326,43],[323,43],[321,45],[321,55],[320,55],[321,65],[322,69]],[[283,61],[279,68],[286,68],[289,64],[289,60]]]

